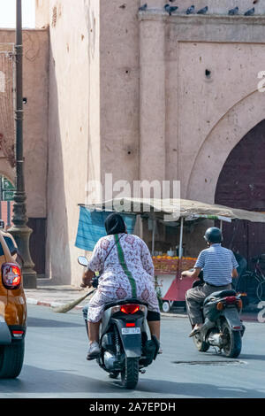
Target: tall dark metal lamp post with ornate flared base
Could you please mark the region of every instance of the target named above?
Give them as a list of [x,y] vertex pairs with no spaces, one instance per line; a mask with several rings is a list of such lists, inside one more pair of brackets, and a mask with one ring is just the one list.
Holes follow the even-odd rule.
[[21,0],[17,0],[17,28],[16,28],[16,190],[14,192],[13,226],[9,232],[18,244],[19,252],[24,259],[22,268],[24,287],[36,288],[36,273],[34,263],[29,252],[29,238],[32,229],[27,227],[26,192],[24,183],[23,156],[23,44],[22,44],[22,7]]

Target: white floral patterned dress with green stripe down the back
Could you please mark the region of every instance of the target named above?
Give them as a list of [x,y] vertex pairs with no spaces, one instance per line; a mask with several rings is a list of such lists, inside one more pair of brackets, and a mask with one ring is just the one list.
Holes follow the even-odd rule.
[[101,320],[108,302],[130,297],[147,302],[148,310],[159,312],[153,260],[140,237],[126,234],[102,237],[95,245],[88,268],[101,273],[98,289],[89,302],[89,322]]

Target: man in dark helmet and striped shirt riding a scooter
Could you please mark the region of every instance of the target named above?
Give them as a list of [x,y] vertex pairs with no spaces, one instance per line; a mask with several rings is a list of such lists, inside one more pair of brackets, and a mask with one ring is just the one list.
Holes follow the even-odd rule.
[[203,285],[198,285],[186,292],[186,309],[193,330],[189,336],[200,332],[203,325],[201,305],[206,297],[219,290],[230,290],[232,278],[238,277],[239,264],[231,250],[225,249],[222,231],[217,227],[207,229],[204,239],[208,249],[202,250],[193,271],[182,272],[182,277],[197,279],[203,270]]

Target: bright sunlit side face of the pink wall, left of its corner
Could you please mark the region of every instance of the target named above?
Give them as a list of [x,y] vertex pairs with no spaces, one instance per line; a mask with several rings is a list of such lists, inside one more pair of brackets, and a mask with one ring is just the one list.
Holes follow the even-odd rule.
[[78,204],[85,202],[88,178],[100,179],[101,166],[99,10],[96,1],[76,0],[74,13],[72,0],[49,6],[47,275],[57,283],[79,284]]

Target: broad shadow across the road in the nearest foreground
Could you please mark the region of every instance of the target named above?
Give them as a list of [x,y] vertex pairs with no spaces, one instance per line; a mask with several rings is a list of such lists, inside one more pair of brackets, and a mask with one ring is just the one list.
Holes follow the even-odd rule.
[[[19,394],[19,397],[42,398],[44,395],[59,397],[63,395],[78,395],[79,397],[154,397],[154,393],[160,397],[265,397],[255,389],[236,388],[233,386],[217,386],[214,384],[176,382],[165,380],[151,380],[140,378],[136,390],[125,390],[120,381],[110,381],[107,378],[102,381],[82,375],[70,374],[68,370],[45,370],[35,366],[24,366],[17,380],[0,380],[1,394]],[[84,396],[82,396],[84,395]],[[105,395],[105,396],[104,396]]]

